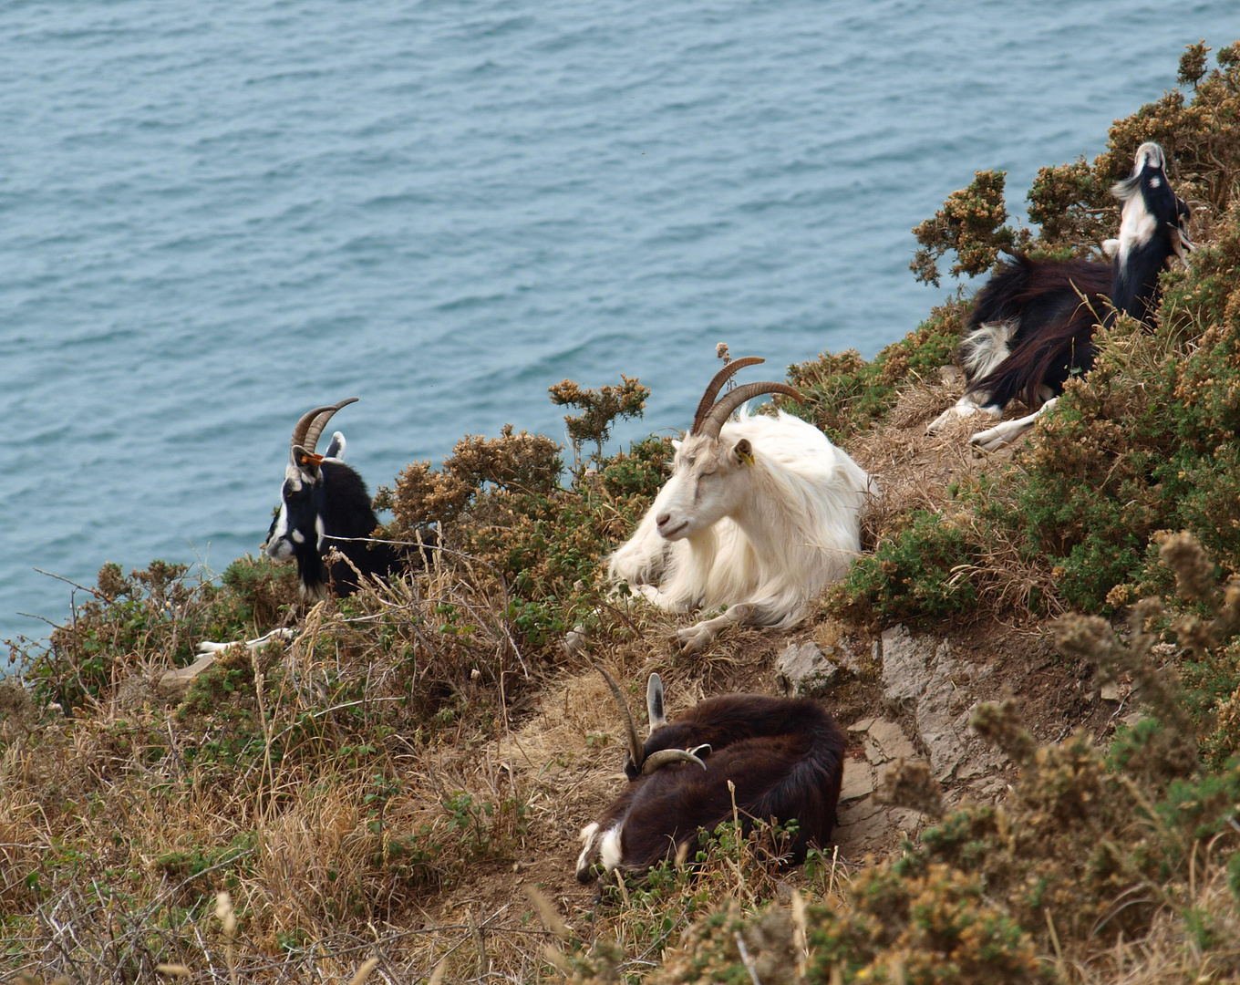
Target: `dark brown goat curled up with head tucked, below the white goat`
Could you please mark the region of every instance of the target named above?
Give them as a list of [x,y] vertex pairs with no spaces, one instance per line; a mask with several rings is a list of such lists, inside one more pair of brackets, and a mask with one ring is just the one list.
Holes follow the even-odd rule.
[[580,882],[590,882],[599,867],[644,872],[682,851],[692,854],[698,829],[714,831],[732,820],[733,804],[745,826],[796,819],[790,861],[802,861],[811,846],[827,845],[843,780],[844,737],[818,705],[808,698],[724,695],[668,723],[663,685],[652,674],[646,689],[650,737],[642,744],[624,695],[603,674],[629,732],[629,788],[582,829]]

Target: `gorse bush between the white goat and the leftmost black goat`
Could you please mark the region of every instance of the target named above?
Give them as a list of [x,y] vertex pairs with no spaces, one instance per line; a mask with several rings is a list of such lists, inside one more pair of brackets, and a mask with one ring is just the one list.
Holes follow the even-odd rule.
[[603,442],[618,416],[641,413],[649,391],[636,380],[620,387],[583,390],[572,381],[552,388],[557,403],[584,408],[569,418],[574,455],[580,442],[599,452],[590,470],[560,485],[559,445],[542,435],[469,437],[443,468],[409,465],[376,497],[391,509],[384,536],[413,541],[427,522],[439,522],[449,553],[443,563],[467,556],[484,578],[503,584],[513,630],[533,649],[558,644],[564,631],[589,624],[596,607],[600,559],[636,525],[668,476],[671,442],[647,438],[627,452],[603,455]]

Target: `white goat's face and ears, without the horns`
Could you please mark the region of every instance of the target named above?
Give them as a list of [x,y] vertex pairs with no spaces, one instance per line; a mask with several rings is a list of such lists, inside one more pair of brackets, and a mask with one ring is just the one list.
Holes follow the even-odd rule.
[[660,536],[678,541],[701,533],[739,509],[748,493],[738,473],[754,464],[748,438],[729,442],[706,434],[689,434],[676,448],[672,478],[655,500],[655,524]]

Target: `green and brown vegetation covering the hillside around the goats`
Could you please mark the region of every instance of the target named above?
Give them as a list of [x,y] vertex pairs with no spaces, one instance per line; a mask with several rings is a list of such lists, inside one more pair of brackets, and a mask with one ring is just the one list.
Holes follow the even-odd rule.
[[[1034,227],[1008,221],[1004,176],[985,171],[915,230],[914,273],[931,283],[949,259],[971,277],[1011,249],[1085,254],[1118,223],[1107,189],[1136,148],[1157,140],[1172,159],[1198,248],[1166,274],[1158,329],[1120,319],[1100,334],[1095,368],[1028,442],[975,457],[963,424],[924,434],[959,396],[967,292],[873,361],[789,367],[807,402],[781,406],[883,489],[866,553],[795,633],[737,630],[686,659],[668,641],[676,617],[608,594],[600,559],[671,457],[657,437],[606,453],[613,422],[647,396],[627,377],[552,388],[568,449],[510,427],[382,489],[382,536],[441,525],[417,577],[308,608],[295,573],[265,559],[218,579],[105,564],[50,640],[11,644],[20,677],[0,682],[0,970],[31,983],[1234,980],[1240,42],[1214,62],[1192,46],[1182,91],[1116,122],[1092,163],[1044,167]],[[776,653],[811,639],[857,656],[826,697],[849,726],[877,706],[909,715],[884,703],[869,657],[895,624],[971,640],[1016,692],[978,701],[980,685],[952,681],[1007,764],[993,795],[898,758],[878,796],[915,824],[889,851],[813,852],[790,870],[785,832],[724,825],[693,867],[599,897],[574,882],[577,830],[618,790],[624,749],[593,662],[634,695],[658,670],[675,717],[703,695],[771,690]],[[290,643],[234,648],[186,692],[160,690],[200,640],[277,625],[295,628]],[[563,645],[573,628],[584,653]],[[1125,695],[1114,715],[1089,697],[1109,686]],[[1038,689],[1089,711],[1049,715]]]

